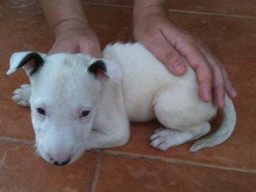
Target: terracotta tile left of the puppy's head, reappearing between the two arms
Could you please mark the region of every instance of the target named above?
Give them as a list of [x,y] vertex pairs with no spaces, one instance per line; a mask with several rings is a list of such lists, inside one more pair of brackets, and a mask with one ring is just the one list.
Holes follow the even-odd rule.
[[[102,48],[110,42],[123,41],[128,35],[131,10],[85,5],[84,9]],[[17,106],[12,92],[20,84],[29,83],[23,70],[8,77],[10,55],[18,51],[47,52],[53,37],[44,20],[40,7],[33,1],[0,2],[0,136],[32,140],[30,110]]]

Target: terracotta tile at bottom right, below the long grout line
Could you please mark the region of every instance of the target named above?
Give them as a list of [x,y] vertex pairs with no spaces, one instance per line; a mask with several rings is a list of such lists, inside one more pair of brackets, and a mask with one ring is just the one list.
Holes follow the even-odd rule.
[[255,191],[256,175],[102,156],[95,191]]

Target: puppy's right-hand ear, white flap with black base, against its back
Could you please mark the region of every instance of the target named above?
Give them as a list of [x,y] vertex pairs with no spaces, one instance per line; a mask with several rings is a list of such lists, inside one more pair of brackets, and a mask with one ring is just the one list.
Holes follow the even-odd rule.
[[93,74],[96,78],[108,76],[117,83],[121,82],[122,68],[115,61],[104,59],[96,60],[88,67],[88,72]]

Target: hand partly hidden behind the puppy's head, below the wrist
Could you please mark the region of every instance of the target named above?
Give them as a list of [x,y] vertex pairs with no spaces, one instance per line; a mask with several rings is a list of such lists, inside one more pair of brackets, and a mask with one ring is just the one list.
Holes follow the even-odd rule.
[[83,53],[100,58],[100,44],[90,27],[80,20],[65,20],[54,28],[55,42],[48,54]]

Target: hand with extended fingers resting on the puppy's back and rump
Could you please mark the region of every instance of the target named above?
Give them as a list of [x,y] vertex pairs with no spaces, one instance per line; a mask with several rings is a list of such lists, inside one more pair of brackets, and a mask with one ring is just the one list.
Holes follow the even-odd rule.
[[225,92],[231,98],[236,90],[228,79],[220,60],[200,40],[177,28],[163,8],[134,17],[134,39],[152,52],[170,72],[180,76],[186,72],[182,57],[195,70],[200,85],[200,97],[218,108],[225,107]]

